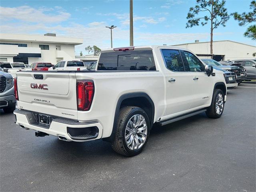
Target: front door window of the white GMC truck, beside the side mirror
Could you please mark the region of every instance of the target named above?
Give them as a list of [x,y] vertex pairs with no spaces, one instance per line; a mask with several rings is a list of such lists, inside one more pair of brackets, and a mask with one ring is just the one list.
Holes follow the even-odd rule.
[[188,62],[189,69],[191,72],[204,71],[204,64],[194,54],[184,51],[186,61]]

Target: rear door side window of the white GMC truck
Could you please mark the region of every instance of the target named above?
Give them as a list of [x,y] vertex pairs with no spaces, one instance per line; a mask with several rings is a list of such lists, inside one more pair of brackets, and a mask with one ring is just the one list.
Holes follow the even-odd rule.
[[180,52],[178,50],[162,50],[166,67],[171,71],[185,71]]

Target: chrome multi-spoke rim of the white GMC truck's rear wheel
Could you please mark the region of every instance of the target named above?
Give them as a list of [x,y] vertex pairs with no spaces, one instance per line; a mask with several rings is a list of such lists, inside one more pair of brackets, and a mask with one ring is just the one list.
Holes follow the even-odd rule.
[[147,123],[141,114],[135,114],[125,128],[125,142],[130,150],[140,149],[147,138]]

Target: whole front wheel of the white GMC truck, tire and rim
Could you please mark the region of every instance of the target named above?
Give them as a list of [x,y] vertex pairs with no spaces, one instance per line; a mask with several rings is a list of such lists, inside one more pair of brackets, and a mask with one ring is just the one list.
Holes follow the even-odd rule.
[[220,89],[215,89],[212,96],[212,103],[205,112],[209,118],[220,118],[224,110],[224,93]]

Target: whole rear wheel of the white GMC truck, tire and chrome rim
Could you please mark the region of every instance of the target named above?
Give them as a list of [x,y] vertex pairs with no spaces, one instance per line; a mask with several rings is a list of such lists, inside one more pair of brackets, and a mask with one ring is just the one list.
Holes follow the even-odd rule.
[[142,152],[150,132],[146,112],[139,107],[126,106],[120,110],[117,123],[113,150],[124,156],[135,156]]

